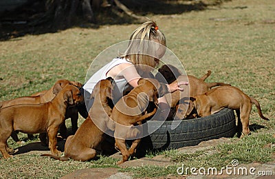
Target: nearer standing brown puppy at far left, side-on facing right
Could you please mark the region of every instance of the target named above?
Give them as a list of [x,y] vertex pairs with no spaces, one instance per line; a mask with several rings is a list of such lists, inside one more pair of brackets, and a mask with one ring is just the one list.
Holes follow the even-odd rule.
[[80,89],[74,85],[66,85],[56,97],[43,104],[13,105],[0,109],[0,151],[3,158],[11,157],[8,154],[7,139],[12,131],[21,131],[27,134],[47,132],[49,148],[52,154],[61,154],[56,149],[56,134],[59,125],[65,120],[68,105],[83,103]]

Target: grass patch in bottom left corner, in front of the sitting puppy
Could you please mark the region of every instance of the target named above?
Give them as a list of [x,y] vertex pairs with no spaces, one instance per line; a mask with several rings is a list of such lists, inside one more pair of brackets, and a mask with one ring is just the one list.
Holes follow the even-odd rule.
[[24,154],[1,160],[0,178],[61,178],[78,169],[116,167],[115,162],[118,160],[106,156],[98,156],[98,160],[91,162],[60,162],[37,154]]

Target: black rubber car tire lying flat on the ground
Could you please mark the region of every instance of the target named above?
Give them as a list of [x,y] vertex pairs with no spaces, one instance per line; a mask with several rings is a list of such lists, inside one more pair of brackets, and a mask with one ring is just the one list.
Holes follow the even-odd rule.
[[[163,122],[148,120],[145,126],[150,128],[159,126],[159,123]],[[232,137],[236,134],[234,111],[228,108],[210,116],[181,120],[175,129],[171,129],[172,125],[173,121],[165,121],[152,134],[142,138],[137,151],[141,154],[148,150],[178,149],[198,145],[205,140]]]

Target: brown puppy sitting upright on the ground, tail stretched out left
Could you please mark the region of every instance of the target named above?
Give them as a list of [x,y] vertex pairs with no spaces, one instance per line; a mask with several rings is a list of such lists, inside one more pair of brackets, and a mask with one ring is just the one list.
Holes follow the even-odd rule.
[[[41,156],[50,156],[56,160],[74,160],[87,161],[96,156],[96,147],[103,140],[104,130],[113,128],[111,116],[111,90],[113,79],[107,78],[96,84],[91,94],[94,103],[89,110],[88,118],[80,125],[74,136],[69,136],[65,143],[65,156],[54,156],[52,154],[43,154]],[[92,116],[92,117],[91,117]],[[103,131],[102,131],[103,130]]]

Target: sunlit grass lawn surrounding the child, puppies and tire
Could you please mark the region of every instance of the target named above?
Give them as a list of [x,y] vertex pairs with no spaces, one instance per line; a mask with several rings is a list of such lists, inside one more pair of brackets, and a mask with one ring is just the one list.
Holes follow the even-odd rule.
[[[182,2],[186,3],[186,2]],[[244,7],[244,8],[240,8]],[[198,151],[180,154],[165,151],[173,162],[167,167],[126,168],[137,177],[175,175],[181,164],[193,167],[224,167],[232,159],[246,164],[274,161],[272,155],[275,129],[275,28],[274,2],[233,0],[221,6],[181,14],[148,14],[166,35],[167,45],[188,74],[212,74],[207,81],[230,83],[239,87],[261,104],[262,120],[253,106],[250,115],[251,136],[234,140],[234,144],[213,148],[214,154]],[[60,78],[85,82],[89,65],[110,45],[125,41],[137,24],[101,25],[98,29],[71,28],[56,33],[26,35],[0,42],[0,101],[28,96],[52,87]],[[110,61],[115,56],[108,56]],[[78,125],[83,121],[80,117]],[[67,120],[69,124],[69,120]],[[258,134],[259,133],[259,134]],[[25,134],[19,134],[26,138]],[[23,147],[39,141],[35,138],[23,145],[8,140],[10,147]],[[113,158],[100,156],[91,162],[69,160],[59,162],[40,154],[20,154],[0,159],[0,178],[60,178],[76,169],[115,167]],[[157,154],[149,153],[148,157]],[[47,177],[45,177],[47,176]]]

